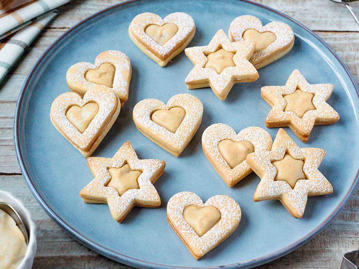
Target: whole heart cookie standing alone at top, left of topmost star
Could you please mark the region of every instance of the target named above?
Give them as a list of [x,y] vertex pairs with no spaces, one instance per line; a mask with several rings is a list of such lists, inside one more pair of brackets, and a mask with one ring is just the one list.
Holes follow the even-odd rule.
[[161,19],[146,12],[132,20],[129,36],[144,54],[165,66],[191,42],[195,30],[194,20],[186,13],[175,12]]

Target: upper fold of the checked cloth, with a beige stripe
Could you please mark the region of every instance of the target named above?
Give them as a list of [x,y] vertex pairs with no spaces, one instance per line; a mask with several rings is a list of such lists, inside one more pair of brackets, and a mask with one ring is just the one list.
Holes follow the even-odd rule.
[[52,9],[70,0],[34,0],[0,14],[0,39],[11,35],[34,20],[41,18]]

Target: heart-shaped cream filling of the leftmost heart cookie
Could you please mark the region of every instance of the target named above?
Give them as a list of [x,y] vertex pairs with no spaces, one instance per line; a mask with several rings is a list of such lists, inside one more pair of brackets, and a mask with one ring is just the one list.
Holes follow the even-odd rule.
[[89,126],[91,120],[93,120],[96,116],[97,112],[98,104],[95,102],[89,102],[82,108],[77,105],[71,106],[66,111],[66,117],[76,127],[76,129],[80,131],[80,133],[83,133]]

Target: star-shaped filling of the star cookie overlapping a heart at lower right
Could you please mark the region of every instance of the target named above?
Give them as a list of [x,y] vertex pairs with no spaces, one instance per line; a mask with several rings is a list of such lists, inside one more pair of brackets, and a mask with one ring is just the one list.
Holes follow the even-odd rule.
[[283,159],[274,161],[272,164],[277,169],[274,180],[286,181],[292,189],[299,179],[306,179],[303,173],[304,161],[294,159],[289,154],[285,154]]

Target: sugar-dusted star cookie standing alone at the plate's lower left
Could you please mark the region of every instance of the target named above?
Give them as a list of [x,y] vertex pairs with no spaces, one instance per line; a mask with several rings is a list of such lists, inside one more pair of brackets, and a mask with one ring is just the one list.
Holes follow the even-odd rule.
[[123,143],[112,158],[89,157],[87,164],[95,178],[80,191],[81,198],[86,203],[108,204],[117,222],[134,206],[158,208],[161,205],[153,184],[163,174],[165,162],[138,159],[130,141]]

